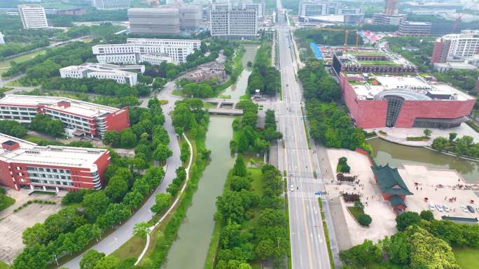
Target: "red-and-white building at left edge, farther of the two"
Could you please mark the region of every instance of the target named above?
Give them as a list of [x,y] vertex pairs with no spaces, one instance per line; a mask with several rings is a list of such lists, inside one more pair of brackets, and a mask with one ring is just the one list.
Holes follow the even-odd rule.
[[128,108],[111,108],[57,96],[6,95],[0,99],[0,120],[29,123],[37,114],[60,119],[67,136],[104,136],[130,127]]

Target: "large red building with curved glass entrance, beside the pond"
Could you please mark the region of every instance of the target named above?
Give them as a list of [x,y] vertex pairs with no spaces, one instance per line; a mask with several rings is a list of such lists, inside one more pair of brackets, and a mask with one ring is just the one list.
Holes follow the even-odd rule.
[[364,129],[452,128],[466,121],[475,98],[449,85],[415,76],[339,74],[349,115]]

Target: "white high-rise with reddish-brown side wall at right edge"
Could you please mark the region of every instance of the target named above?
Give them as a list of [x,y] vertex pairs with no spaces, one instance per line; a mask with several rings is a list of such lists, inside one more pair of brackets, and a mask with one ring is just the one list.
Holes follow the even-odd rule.
[[461,60],[479,54],[479,30],[464,30],[436,39],[431,63]]

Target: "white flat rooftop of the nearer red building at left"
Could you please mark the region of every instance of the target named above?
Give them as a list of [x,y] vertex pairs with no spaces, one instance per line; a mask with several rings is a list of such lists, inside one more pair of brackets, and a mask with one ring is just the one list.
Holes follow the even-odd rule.
[[85,147],[46,146],[41,147],[20,138],[0,133],[0,143],[13,141],[20,145],[15,150],[1,148],[0,160],[7,162],[32,163],[51,166],[76,166],[90,168],[98,157],[107,150]]

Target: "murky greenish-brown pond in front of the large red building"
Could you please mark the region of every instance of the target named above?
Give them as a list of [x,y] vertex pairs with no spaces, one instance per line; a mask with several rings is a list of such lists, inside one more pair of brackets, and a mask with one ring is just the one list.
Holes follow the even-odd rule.
[[373,147],[373,157],[378,165],[389,163],[398,167],[403,163],[424,163],[429,168],[457,170],[466,182],[479,182],[477,161],[460,159],[422,147],[398,145],[381,138],[370,139],[368,143]]

